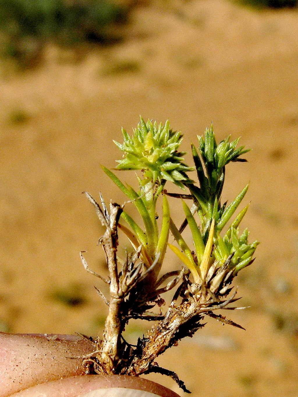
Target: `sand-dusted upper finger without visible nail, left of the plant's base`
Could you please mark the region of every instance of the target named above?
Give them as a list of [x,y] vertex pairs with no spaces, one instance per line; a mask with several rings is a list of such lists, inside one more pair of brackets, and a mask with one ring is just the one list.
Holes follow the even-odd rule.
[[75,335],[0,333],[0,397],[34,385],[84,374],[93,345]]

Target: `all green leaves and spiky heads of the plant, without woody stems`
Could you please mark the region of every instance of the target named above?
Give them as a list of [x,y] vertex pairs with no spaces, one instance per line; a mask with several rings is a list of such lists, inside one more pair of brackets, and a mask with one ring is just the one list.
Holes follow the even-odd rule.
[[[137,224],[132,217],[123,211],[119,227],[128,237],[132,247],[137,250],[141,246],[141,260],[149,268],[155,266],[155,279],[161,269],[167,247],[174,251],[178,258],[190,269],[194,282],[204,282],[210,266],[216,261],[217,266],[224,264],[230,257],[230,270],[236,274],[248,266],[258,242],[248,243],[248,230],[239,236],[239,225],[248,206],[244,207],[235,218],[234,214],[242,202],[248,185],[229,204],[221,205],[225,166],[230,162],[244,162],[241,155],[248,152],[244,146],[237,147],[239,139],[229,142],[227,137],[217,145],[213,128],[206,128],[205,136],[198,137],[199,147],[192,145],[195,167],[184,164],[185,152],[179,152],[182,141],[180,132],[173,132],[168,121],[165,125],[141,118],[134,129],[132,137],[122,129],[124,143],[116,145],[124,152],[123,159],[118,161],[118,170],[140,170],[137,177],[139,191],[124,185],[110,170],[104,172],[116,183],[126,196],[134,202],[143,225]],[[199,185],[190,179],[187,172],[196,170]],[[195,212],[182,200],[186,220],[192,232],[194,249],[184,241],[181,233],[170,218],[170,208],[166,195],[163,195],[163,214],[160,227],[157,224],[156,204],[163,193],[166,183],[174,183],[180,188],[187,187],[195,204],[195,212],[199,216],[199,224],[195,220]],[[228,229],[221,236],[226,225]],[[169,231],[172,232],[178,247],[168,244]],[[231,256],[232,255],[232,256]]]

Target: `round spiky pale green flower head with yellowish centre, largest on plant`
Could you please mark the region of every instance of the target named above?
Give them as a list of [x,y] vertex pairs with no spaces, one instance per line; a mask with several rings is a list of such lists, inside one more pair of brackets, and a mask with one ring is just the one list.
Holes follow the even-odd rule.
[[118,160],[117,170],[141,170],[143,184],[171,181],[184,189],[183,183],[193,183],[186,172],[194,168],[184,164],[184,154],[178,152],[182,141],[180,131],[172,131],[169,122],[157,125],[156,121],[147,123],[140,117],[132,137],[122,129],[124,143],[114,143],[123,152],[123,159]]

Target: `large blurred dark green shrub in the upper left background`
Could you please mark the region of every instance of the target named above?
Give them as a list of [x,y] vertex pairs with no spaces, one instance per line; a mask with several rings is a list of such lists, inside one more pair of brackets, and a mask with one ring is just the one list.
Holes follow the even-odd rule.
[[127,20],[128,8],[111,0],[0,0],[0,52],[32,66],[45,44],[110,44],[110,26]]

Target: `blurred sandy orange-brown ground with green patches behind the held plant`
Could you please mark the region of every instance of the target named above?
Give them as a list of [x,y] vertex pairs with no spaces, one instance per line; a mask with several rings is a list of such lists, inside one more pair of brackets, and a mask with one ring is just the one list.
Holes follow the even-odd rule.
[[139,114],[169,119],[182,150],[213,121],[218,141],[241,135],[253,149],[223,192],[250,182],[243,223],[261,241],[238,277],[250,308],[223,312],[246,331],[207,318],[159,364],[194,397],[297,396],[296,1],[0,0],[0,53],[0,330],[101,332],[99,282],[79,251],[104,274],[103,230],[81,192],[126,200],[100,164],[116,165],[112,139]]

